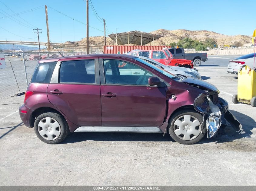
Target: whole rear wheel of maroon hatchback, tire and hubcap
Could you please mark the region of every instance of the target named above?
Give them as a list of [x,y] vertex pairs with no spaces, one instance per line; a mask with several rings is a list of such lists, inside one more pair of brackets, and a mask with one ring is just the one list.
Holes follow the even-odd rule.
[[68,123],[58,113],[47,112],[35,119],[34,130],[37,137],[47,144],[62,142],[68,135]]

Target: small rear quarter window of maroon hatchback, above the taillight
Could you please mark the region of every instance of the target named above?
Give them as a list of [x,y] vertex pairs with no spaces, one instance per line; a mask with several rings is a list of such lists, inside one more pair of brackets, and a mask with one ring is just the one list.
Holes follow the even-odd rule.
[[32,83],[50,83],[57,62],[39,63],[32,76]]

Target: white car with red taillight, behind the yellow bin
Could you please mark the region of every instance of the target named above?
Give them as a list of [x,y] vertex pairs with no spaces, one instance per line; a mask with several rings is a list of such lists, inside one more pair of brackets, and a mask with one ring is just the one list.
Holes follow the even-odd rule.
[[244,56],[240,56],[235,59],[230,59],[228,64],[227,72],[231,74],[238,74],[240,69],[243,68],[244,65],[247,65],[251,69],[256,69],[256,63],[254,64],[256,54],[251,53]]

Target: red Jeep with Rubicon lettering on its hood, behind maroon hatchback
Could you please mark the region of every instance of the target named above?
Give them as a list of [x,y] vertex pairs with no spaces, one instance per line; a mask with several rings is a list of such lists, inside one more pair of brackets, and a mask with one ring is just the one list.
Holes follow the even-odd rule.
[[185,68],[194,68],[191,60],[173,59],[168,49],[163,50],[131,50],[129,52],[133,56],[144,56],[160,62],[164,65],[181,66]]

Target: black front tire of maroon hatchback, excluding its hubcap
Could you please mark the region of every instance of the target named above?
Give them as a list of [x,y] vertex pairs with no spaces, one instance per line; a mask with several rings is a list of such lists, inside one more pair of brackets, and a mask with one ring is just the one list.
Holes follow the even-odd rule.
[[[179,117],[181,117],[183,115],[193,116],[194,118],[198,119],[198,121],[201,124],[200,134],[192,140],[183,140],[183,139],[179,138],[174,132],[174,123],[175,123],[176,119],[178,119]],[[171,138],[173,138],[176,142],[178,142],[180,144],[191,145],[191,144],[194,144],[194,143],[200,141],[204,137],[204,135],[206,134],[206,126],[205,126],[205,123],[203,120],[203,116],[200,113],[198,113],[192,109],[185,109],[185,110],[180,110],[171,116],[171,118],[169,120],[168,131],[169,131],[169,134],[171,135]]]

